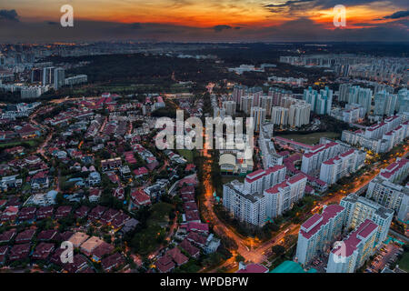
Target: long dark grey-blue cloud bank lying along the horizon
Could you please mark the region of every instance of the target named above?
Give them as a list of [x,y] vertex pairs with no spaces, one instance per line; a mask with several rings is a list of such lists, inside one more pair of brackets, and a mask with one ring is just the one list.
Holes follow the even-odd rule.
[[[49,25],[46,22],[18,22],[0,25],[0,42],[72,42],[72,41],[173,41],[173,42],[332,42],[332,41],[404,41],[409,39],[409,20],[400,18],[387,23],[348,25],[328,29],[309,18],[299,18],[282,25],[254,27],[248,25],[217,25],[194,27],[154,23],[120,24],[78,20],[74,27]],[[228,28],[230,27],[230,28]],[[236,29],[236,27],[241,27]],[[135,29],[137,28],[137,29]]]

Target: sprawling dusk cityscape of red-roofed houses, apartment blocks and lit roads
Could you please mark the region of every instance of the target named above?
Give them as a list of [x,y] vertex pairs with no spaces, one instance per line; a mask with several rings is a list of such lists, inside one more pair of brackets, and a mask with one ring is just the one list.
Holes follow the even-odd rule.
[[[0,271],[408,272],[408,59],[296,47],[0,45]],[[177,110],[253,155],[159,149]]]

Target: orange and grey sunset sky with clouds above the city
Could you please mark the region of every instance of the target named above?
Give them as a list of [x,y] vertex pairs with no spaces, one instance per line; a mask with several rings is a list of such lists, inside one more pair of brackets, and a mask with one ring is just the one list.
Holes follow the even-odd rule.
[[[60,25],[62,5],[74,27]],[[409,41],[409,0],[0,0],[2,43],[98,40]]]

